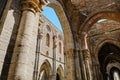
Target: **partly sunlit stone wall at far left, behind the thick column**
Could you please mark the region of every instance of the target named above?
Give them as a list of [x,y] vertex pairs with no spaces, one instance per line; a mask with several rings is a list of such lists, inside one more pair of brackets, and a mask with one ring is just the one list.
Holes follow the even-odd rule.
[[[2,17],[5,21],[2,21],[3,25],[0,34],[0,75],[2,75],[3,80],[6,79],[8,74],[8,68],[11,61],[11,55],[14,48],[14,43],[16,40],[17,29],[19,27],[19,21],[21,16],[20,11],[20,0],[8,1],[6,5],[6,11]],[[6,12],[6,13],[5,13]]]

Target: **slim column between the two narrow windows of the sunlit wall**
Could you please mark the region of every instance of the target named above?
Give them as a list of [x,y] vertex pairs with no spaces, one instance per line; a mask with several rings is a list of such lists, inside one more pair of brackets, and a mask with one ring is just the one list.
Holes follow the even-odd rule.
[[57,36],[53,37],[53,78],[52,80],[56,80],[56,48],[57,48]]

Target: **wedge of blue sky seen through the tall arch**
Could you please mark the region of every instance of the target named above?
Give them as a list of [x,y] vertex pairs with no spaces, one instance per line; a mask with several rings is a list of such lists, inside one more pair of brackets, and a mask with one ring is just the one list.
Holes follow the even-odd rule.
[[51,21],[60,31],[62,31],[61,24],[59,22],[59,19],[54,11],[53,8],[51,7],[44,7],[42,14],[49,20]]

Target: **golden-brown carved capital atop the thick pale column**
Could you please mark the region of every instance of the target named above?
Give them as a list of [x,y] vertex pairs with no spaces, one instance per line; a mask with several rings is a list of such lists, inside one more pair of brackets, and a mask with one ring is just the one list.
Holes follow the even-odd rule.
[[21,1],[22,10],[29,10],[34,13],[42,10],[42,4],[39,0],[22,0]]

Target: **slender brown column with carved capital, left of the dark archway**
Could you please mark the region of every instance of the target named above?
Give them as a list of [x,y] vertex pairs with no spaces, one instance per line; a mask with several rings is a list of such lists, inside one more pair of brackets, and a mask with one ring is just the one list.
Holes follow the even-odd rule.
[[83,61],[85,64],[86,77],[87,77],[87,80],[93,80],[92,70],[91,70],[92,65],[91,65],[90,51],[88,49],[86,33],[82,33],[81,42],[82,42],[81,48],[82,48],[82,54],[83,54]]

